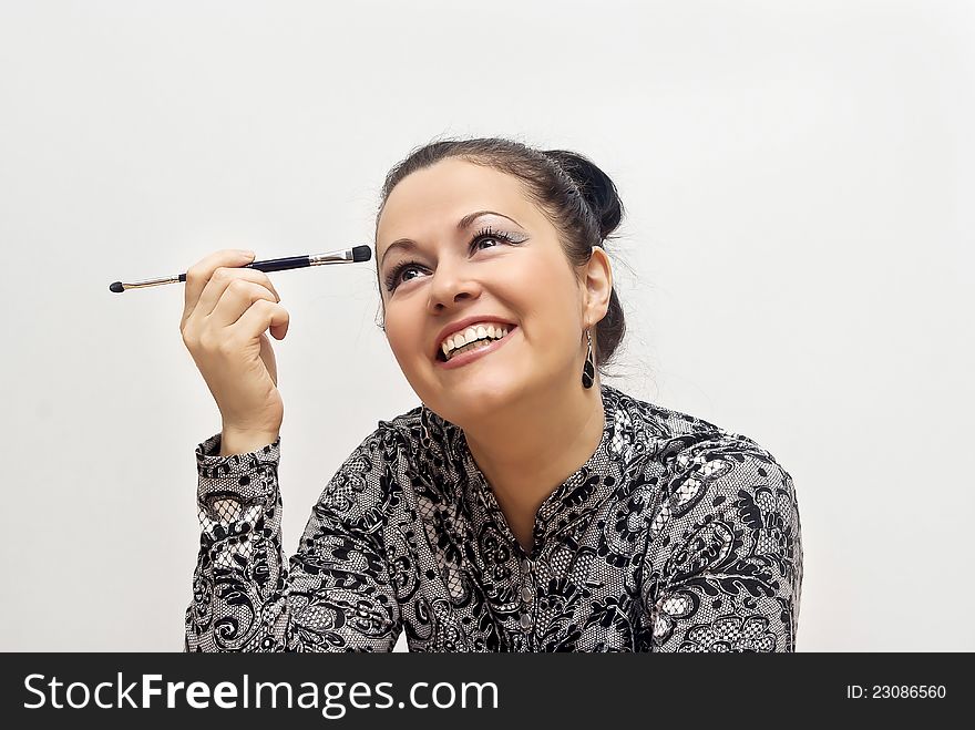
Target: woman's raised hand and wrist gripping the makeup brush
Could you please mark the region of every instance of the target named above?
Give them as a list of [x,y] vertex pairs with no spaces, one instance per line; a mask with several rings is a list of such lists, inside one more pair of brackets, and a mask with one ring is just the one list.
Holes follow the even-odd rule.
[[[223,417],[222,454],[274,442],[284,420],[274,350],[290,316],[264,271],[239,268],[253,254],[215,251],[186,271],[179,332]],[[228,451],[227,441],[234,440]],[[250,446],[247,449],[245,446]]]

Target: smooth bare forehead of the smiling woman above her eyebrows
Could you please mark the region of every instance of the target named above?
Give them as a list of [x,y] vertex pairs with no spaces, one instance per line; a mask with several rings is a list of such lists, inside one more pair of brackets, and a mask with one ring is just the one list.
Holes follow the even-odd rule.
[[435,236],[474,210],[496,210],[523,226],[541,216],[517,177],[464,160],[443,160],[407,175],[392,189],[376,230],[377,255],[398,238]]

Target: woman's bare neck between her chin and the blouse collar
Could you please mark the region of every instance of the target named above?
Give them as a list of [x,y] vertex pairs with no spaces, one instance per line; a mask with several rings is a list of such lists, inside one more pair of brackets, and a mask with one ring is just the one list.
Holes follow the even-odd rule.
[[541,504],[596,451],[604,421],[599,381],[584,389],[574,380],[533,391],[464,429],[474,461],[523,545]]

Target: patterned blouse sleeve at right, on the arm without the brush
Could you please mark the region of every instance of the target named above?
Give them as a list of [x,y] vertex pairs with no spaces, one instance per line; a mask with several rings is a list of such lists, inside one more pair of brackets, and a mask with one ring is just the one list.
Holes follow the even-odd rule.
[[740,434],[668,459],[643,566],[655,651],[794,651],[802,544],[792,477]]

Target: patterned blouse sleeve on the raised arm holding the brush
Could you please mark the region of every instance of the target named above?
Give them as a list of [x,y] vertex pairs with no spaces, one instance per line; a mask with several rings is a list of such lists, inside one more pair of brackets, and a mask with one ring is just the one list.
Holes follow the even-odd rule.
[[383,527],[397,446],[377,430],[315,505],[298,551],[281,551],[280,438],[219,456],[196,449],[202,528],[185,651],[391,651],[400,611]]

